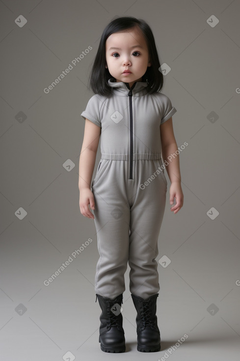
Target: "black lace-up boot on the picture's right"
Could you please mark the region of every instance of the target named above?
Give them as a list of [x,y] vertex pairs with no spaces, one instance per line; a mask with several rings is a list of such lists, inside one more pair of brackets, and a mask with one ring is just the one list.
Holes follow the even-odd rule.
[[157,298],[159,294],[153,295],[146,300],[132,294],[131,296],[137,311],[137,351],[160,351],[160,331],[156,316]]

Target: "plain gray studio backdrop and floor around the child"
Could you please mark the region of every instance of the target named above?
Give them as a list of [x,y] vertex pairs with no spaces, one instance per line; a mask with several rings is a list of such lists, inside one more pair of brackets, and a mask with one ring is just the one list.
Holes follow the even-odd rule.
[[[240,1],[2,0],[0,13],[1,359],[236,360]],[[180,152],[185,198],[177,214],[165,172],[157,258],[161,351],[136,351],[128,268],[127,350],[109,356],[98,342],[95,225],[79,209],[80,113],[93,95],[87,82],[102,31],[124,15],[153,30],[160,62],[171,68],[162,92],[177,109],[177,144],[188,146]],[[99,159],[100,147],[93,177]]]

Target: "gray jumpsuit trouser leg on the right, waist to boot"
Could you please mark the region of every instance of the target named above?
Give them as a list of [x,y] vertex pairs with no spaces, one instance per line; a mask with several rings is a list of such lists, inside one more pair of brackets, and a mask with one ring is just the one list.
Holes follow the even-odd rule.
[[[139,161],[139,183],[143,183],[157,168],[156,161]],[[143,169],[144,167],[144,169]],[[147,299],[160,290],[158,263],[158,237],[166,203],[166,179],[159,174],[145,189],[135,189],[131,207],[129,266],[130,291]]]

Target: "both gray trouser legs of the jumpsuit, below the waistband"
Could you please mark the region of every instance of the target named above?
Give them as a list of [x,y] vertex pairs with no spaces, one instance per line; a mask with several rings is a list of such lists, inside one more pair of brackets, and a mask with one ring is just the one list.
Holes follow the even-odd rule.
[[100,258],[96,266],[95,292],[115,298],[125,291],[124,274],[129,262],[130,291],[148,298],[159,289],[158,237],[165,209],[167,182],[157,175],[144,189],[159,160],[129,162],[101,159],[93,180],[95,226]]

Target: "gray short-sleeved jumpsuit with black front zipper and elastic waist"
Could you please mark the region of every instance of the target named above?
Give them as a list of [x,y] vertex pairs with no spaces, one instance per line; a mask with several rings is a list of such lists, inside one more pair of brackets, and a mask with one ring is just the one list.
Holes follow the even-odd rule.
[[160,290],[158,237],[165,210],[167,180],[161,160],[160,124],[176,109],[146,82],[108,80],[109,97],[93,95],[81,113],[101,127],[101,159],[91,188],[100,258],[95,292],[114,299],[125,291],[146,299]]

